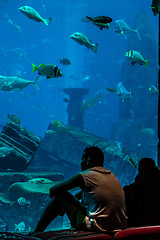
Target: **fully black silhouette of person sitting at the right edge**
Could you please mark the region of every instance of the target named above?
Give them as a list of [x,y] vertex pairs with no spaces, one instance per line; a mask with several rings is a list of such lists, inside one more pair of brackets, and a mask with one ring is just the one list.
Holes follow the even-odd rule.
[[160,171],[142,158],[135,182],[124,186],[128,227],[160,225]]

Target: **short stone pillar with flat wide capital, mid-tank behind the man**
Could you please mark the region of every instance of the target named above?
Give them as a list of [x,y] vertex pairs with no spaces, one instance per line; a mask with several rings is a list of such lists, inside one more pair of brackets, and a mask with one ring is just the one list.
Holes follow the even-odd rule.
[[88,93],[88,88],[64,88],[70,99],[68,102],[68,125],[79,127],[83,130],[83,96]]

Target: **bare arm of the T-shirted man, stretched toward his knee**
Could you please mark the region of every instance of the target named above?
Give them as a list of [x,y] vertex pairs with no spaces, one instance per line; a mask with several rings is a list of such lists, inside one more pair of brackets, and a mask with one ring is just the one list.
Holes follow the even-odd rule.
[[73,188],[80,187],[84,188],[84,180],[80,174],[77,174],[66,181],[57,183],[50,189],[50,197],[54,197],[58,194],[63,194],[64,192],[71,190]]

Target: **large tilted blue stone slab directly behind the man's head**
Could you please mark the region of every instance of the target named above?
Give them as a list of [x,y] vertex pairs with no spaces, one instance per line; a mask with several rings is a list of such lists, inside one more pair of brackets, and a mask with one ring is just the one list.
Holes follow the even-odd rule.
[[60,121],[50,123],[29,168],[47,169],[47,162],[50,171],[70,177],[80,171],[83,150],[93,145],[103,150],[105,168],[111,169],[122,184],[133,181],[137,172],[136,155],[128,154],[118,142],[107,141]]

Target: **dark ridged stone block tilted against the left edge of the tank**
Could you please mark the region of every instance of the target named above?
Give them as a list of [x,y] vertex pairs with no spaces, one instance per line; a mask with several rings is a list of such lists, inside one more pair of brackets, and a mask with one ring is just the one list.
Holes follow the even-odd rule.
[[41,138],[8,121],[0,134],[0,170],[23,171],[37,151]]

